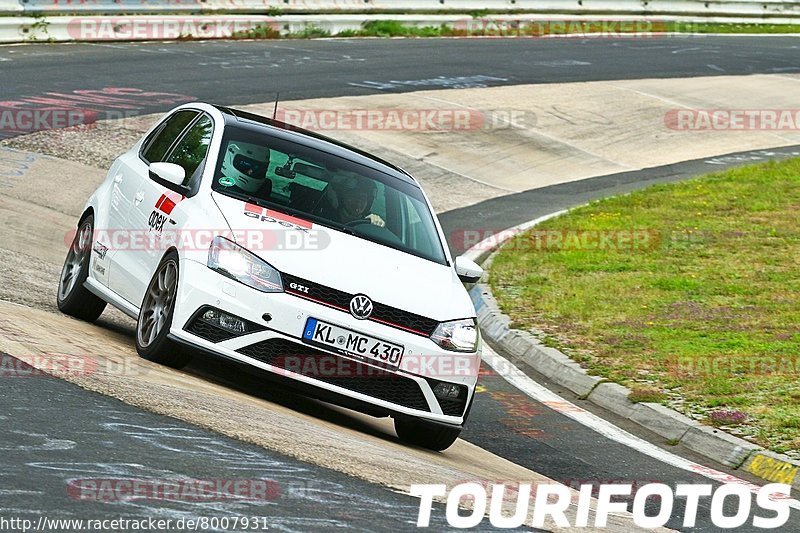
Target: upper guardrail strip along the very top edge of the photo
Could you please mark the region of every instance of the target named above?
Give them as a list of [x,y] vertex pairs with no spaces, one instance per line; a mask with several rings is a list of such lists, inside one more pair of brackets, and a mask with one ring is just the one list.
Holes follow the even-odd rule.
[[491,10],[536,13],[674,14],[699,16],[798,16],[795,0],[0,0],[0,13],[31,15],[150,14],[224,11],[252,14],[343,12],[470,13]]

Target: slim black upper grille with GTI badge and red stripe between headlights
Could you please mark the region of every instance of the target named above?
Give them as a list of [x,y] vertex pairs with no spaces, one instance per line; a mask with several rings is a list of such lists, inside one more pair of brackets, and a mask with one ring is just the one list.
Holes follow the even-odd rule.
[[[283,277],[283,285],[287,293],[349,312],[350,300],[355,295],[326,287],[325,285],[320,285],[313,281],[298,278],[297,276],[289,274],[281,274],[281,276]],[[308,292],[292,289],[292,283],[307,288]],[[409,313],[408,311],[403,311],[402,309],[397,309],[378,302],[373,302],[372,315],[369,317],[369,320],[385,323],[389,326],[398,327],[425,337],[430,337],[436,330],[436,326],[439,325],[438,321],[431,318]]]

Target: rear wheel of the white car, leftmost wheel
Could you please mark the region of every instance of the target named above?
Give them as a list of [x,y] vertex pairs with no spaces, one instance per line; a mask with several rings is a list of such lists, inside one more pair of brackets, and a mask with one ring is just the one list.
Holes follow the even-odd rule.
[[78,231],[64,259],[58,278],[56,304],[64,314],[94,322],[106,308],[106,302],[89,292],[83,282],[89,277],[92,257],[94,216],[89,215],[78,224]]

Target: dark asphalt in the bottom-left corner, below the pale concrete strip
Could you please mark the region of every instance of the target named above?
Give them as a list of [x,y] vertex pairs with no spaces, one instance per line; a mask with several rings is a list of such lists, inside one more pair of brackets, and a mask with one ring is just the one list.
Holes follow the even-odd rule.
[[[60,520],[148,517],[171,519],[171,530],[179,530],[181,519],[238,517],[255,519],[257,531],[265,530],[261,526],[266,523],[278,531],[346,527],[390,532],[411,529],[416,522],[419,501],[414,497],[376,491],[345,474],[151,414],[56,378],[4,380],[3,407],[0,421],[7,438],[0,442],[0,516],[6,518],[36,523],[41,515]],[[226,493],[223,488],[217,497],[150,500],[129,497],[129,489],[119,482],[181,479],[242,481],[253,490]],[[256,483],[264,483],[266,490]],[[155,495],[157,485],[151,486]],[[181,490],[189,494],[190,487],[186,484]],[[436,507],[431,527],[439,530],[447,524],[442,506]]]

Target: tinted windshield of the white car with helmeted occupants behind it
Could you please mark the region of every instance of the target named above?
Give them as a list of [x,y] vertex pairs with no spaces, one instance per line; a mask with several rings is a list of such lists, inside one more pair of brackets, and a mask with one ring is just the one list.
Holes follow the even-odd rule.
[[417,186],[327,152],[228,126],[212,189],[447,264]]

